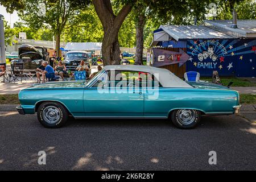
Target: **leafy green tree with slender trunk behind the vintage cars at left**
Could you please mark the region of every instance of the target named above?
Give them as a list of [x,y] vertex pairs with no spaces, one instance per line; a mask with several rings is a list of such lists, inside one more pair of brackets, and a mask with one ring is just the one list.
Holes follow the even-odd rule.
[[[60,36],[64,28],[77,24],[80,11],[85,7],[71,0],[23,0],[26,6],[18,14],[31,28],[49,28],[56,38],[56,49],[60,48]],[[88,1],[84,1],[85,3]],[[59,51],[57,51],[57,56]]]

